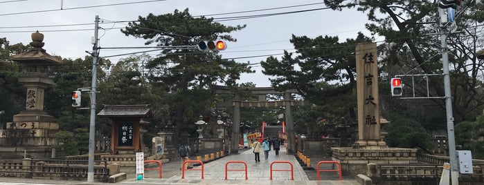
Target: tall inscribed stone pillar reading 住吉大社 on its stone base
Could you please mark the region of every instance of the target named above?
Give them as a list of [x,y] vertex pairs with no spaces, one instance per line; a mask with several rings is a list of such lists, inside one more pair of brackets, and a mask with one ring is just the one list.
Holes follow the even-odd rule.
[[356,48],[358,140],[352,148],[331,148],[332,159],[347,175],[366,174],[367,164],[416,164],[417,149],[388,148],[379,115],[377,44]]

